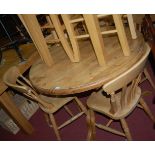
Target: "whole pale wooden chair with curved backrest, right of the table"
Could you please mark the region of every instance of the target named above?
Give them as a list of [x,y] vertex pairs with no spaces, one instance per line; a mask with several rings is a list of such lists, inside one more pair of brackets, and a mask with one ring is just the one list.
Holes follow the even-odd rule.
[[[103,90],[93,92],[90,95],[87,100],[87,106],[89,108],[87,115],[89,127],[88,140],[95,138],[95,127],[132,140],[125,118],[132,113],[136,107],[143,109],[150,119],[155,122],[153,114],[141,97],[141,89],[138,86],[149,51],[150,49],[147,46],[146,52],[144,52],[145,54],[143,54],[136,64],[115,79],[107,82],[103,86]],[[104,95],[103,91],[107,94]],[[95,112],[107,116],[110,118],[110,121],[106,125],[97,123],[95,121]],[[114,120],[120,121],[123,132],[109,127]]]

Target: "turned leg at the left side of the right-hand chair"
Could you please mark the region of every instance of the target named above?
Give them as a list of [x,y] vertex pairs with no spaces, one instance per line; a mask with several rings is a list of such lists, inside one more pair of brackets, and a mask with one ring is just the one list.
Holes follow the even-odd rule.
[[87,140],[94,140],[96,132],[95,132],[95,115],[93,110],[88,110],[86,122],[88,126]]

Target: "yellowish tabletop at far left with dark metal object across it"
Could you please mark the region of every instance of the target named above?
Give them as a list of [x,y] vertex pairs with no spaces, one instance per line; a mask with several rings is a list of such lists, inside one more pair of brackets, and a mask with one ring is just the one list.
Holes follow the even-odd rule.
[[[20,46],[20,49],[24,59],[28,59],[33,54],[33,52],[36,51],[33,43],[23,44]],[[2,79],[3,74],[9,67],[24,63],[20,63],[20,59],[14,49],[3,51],[2,55],[2,63],[0,65],[0,79]]]

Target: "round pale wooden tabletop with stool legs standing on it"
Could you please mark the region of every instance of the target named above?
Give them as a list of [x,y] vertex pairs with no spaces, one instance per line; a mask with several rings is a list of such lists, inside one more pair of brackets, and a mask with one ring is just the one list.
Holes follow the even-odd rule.
[[39,59],[30,69],[30,81],[40,93],[50,95],[75,94],[101,87],[130,68],[148,47],[141,34],[134,40],[130,34],[127,37],[131,55],[126,57],[116,36],[104,38],[107,51],[105,66],[99,66],[89,40],[79,42],[81,60],[78,63],[71,62],[63,48],[54,45],[50,48],[54,65],[47,67]]

